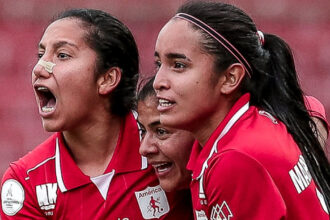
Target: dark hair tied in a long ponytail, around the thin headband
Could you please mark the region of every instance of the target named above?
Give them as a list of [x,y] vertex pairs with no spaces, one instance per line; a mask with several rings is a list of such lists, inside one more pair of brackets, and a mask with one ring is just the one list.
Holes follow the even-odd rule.
[[[177,13],[186,13],[201,20],[244,56],[252,68],[245,76],[241,92],[251,94],[250,104],[260,107],[287,127],[299,146],[314,181],[330,207],[329,162],[314,133],[299,85],[294,59],[285,41],[272,34],[264,35],[264,44],[257,35],[252,19],[235,6],[220,2],[188,2]],[[194,24],[191,27],[202,35],[201,48],[215,58],[216,72],[221,73],[237,59],[218,41]],[[313,130],[314,129],[314,130]]]

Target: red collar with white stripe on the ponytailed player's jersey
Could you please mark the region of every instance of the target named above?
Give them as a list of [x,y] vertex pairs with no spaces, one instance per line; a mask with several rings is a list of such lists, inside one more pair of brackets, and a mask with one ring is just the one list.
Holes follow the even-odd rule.
[[217,152],[216,145],[218,141],[231,129],[231,127],[239,120],[239,118],[249,108],[250,94],[243,95],[230,109],[225,118],[220,122],[210,138],[201,147],[195,141],[192,152],[190,154],[187,169],[193,172],[193,179],[198,179],[202,176],[204,170],[207,168],[207,160],[213,153]]

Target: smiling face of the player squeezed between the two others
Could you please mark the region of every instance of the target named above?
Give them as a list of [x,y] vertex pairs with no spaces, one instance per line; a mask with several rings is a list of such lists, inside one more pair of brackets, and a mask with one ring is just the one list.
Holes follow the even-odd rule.
[[191,173],[186,170],[192,135],[160,124],[158,101],[148,96],[138,102],[138,121],[142,130],[140,153],[146,156],[165,191],[189,188]]

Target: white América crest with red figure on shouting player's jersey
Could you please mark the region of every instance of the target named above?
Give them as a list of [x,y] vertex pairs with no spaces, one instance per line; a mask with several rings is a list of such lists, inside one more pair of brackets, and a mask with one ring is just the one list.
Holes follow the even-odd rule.
[[164,190],[160,185],[135,192],[144,219],[160,218],[170,211]]

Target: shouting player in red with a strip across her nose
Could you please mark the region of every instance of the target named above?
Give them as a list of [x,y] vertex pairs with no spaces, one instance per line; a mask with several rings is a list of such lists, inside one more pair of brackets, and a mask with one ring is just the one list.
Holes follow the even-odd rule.
[[10,164],[2,219],[168,217],[171,203],[139,154],[131,112],[139,59],[128,28],[103,11],[65,11],[43,33],[38,56],[32,86],[43,127],[55,134]]

